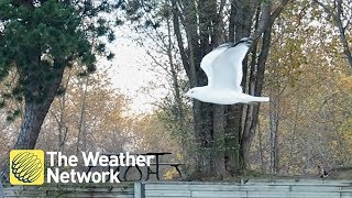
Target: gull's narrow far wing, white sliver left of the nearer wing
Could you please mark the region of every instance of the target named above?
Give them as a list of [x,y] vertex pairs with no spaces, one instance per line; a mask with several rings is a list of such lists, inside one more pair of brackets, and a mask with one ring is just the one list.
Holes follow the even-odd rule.
[[231,43],[224,43],[220,46],[218,46],[216,50],[211,51],[210,53],[208,53],[200,62],[200,67],[201,69],[206,73],[207,77],[208,77],[208,85],[212,84],[211,82],[211,75],[212,75],[212,69],[211,69],[211,65],[212,62],[221,54],[223,53],[226,50],[228,50],[232,44]]

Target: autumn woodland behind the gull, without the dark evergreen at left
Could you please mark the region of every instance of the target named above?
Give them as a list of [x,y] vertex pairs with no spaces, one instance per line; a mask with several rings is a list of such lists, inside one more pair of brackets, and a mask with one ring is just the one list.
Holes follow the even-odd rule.
[[[109,68],[80,75],[79,66],[67,67],[64,91],[35,147],[65,154],[169,151],[169,161],[186,163],[194,179],[317,176],[318,165],[352,166],[351,1],[132,0],[114,9],[118,25],[135,31],[131,40],[153,59],[141,67],[166,78],[168,95],[152,111],[135,113],[112,87]],[[216,106],[184,97],[207,82],[199,67],[205,54],[250,35],[256,40],[243,63],[242,85],[268,96],[270,103]],[[2,78],[2,96],[16,78],[15,69]],[[161,88],[157,81],[151,79],[141,97]],[[16,142],[23,107],[10,99],[0,109],[1,166]]]

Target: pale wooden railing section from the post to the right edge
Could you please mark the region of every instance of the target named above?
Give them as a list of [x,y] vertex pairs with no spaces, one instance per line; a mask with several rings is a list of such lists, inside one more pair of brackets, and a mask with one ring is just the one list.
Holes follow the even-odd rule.
[[134,189],[135,198],[352,198],[352,180],[136,183]]

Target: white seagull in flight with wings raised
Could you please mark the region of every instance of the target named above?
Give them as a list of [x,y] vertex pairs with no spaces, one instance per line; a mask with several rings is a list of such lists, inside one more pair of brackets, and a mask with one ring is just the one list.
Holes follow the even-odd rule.
[[186,92],[187,97],[217,103],[252,103],[270,101],[268,97],[254,97],[243,94],[242,62],[253,40],[243,37],[238,43],[224,43],[207,54],[200,62],[200,67],[208,77],[208,85],[194,87]]

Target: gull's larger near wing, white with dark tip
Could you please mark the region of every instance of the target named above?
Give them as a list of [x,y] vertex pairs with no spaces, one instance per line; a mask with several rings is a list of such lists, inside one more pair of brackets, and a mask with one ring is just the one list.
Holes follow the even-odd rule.
[[242,38],[240,42],[228,47],[218,55],[210,66],[211,69],[209,73],[211,76],[211,84],[209,84],[209,86],[213,88],[242,91],[242,62],[251,44],[251,38]]

